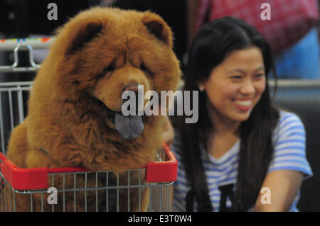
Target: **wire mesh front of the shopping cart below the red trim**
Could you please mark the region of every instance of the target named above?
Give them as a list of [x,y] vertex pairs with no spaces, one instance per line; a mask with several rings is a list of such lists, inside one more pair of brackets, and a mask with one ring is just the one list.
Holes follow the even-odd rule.
[[[18,191],[0,172],[1,212],[169,211],[171,184],[146,183],[146,169],[48,174],[48,189]],[[149,193],[149,195],[148,195]],[[147,204],[146,204],[147,203]]]

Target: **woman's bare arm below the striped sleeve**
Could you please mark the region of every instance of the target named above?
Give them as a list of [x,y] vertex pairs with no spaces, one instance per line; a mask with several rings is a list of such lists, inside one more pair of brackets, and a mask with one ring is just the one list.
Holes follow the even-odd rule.
[[[270,190],[259,194],[254,211],[288,211],[302,184],[303,174],[299,171],[277,170],[267,174],[262,188]],[[262,190],[263,191],[263,190]],[[266,197],[270,191],[270,204]]]

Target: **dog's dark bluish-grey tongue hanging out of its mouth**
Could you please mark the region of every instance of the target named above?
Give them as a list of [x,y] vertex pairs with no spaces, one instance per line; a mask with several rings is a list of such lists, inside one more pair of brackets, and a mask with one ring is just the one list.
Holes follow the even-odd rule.
[[141,115],[124,116],[121,113],[115,113],[115,127],[122,137],[135,139],[144,130]]

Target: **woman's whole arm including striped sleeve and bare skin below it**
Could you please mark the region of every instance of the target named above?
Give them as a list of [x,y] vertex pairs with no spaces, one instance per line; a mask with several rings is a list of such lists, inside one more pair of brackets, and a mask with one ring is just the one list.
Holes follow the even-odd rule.
[[263,204],[266,193],[260,193],[255,211],[290,210],[304,176],[312,175],[306,159],[306,134],[300,118],[294,113],[281,112],[277,131],[274,157],[262,183],[262,188],[270,188],[271,203]]

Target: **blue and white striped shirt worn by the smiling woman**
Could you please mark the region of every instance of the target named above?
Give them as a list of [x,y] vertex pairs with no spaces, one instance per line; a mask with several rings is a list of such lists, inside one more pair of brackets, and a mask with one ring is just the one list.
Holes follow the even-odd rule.
[[[286,111],[280,111],[279,123],[272,133],[274,145],[274,157],[270,163],[268,172],[276,170],[294,170],[304,173],[304,179],[312,176],[312,171],[306,160],[305,143],[306,136],[304,125],[297,115]],[[186,193],[190,190],[190,183],[186,179],[184,166],[181,162],[181,138],[178,134],[171,146],[172,152],[178,160],[178,177],[174,185],[173,211],[186,210]],[[235,184],[238,173],[238,158],[240,150],[240,140],[226,152],[223,157],[215,159],[203,149],[201,159],[206,171],[208,191],[211,203],[215,211],[220,208],[220,190],[219,187],[228,184]],[[235,189],[235,186],[234,188]],[[299,192],[289,211],[298,211],[297,203]],[[226,207],[231,207],[229,198],[226,201]]]

